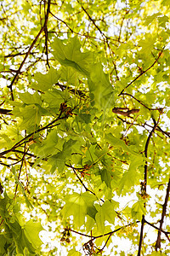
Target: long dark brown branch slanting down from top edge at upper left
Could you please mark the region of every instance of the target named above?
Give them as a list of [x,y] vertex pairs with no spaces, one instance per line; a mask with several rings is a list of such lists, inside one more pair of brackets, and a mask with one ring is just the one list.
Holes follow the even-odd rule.
[[10,92],[11,92],[11,98],[12,98],[13,101],[14,101],[13,84],[14,84],[14,82],[16,81],[16,79],[18,78],[18,76],[19,76],[19,74],[20,74],[20,70],[21,70],[21,68],[24,66],[27,57],[30,55],[31,49],[32,49],[32,48],[34,47],[34,45],[37,43],[37,39],[40,37],[40,35],[42,34],[42,32],[45,31],[46,28],[47,28],[47,24],[48,24],[48,15],[49,15],[49,12],[50,12],[50,3],[51,3],[51,0],[48,0],[48,9],[47,9],[47,13],[46,13],[46,15],[45,15],[45,21],[44,21],[44,24],[43,24],[42,28],[41,28],[40,31],[37,33],[37,37],[33,40],[33,42],[32,42],[32,44],[31,44],[30,48],[28,49],[24,60],[21,62],[19,69],[17,70],[17,72],[16,72],[15,75],[14,75],[14,79],[12,80],[11,84],[8,85],[8,88],[10,89]]

